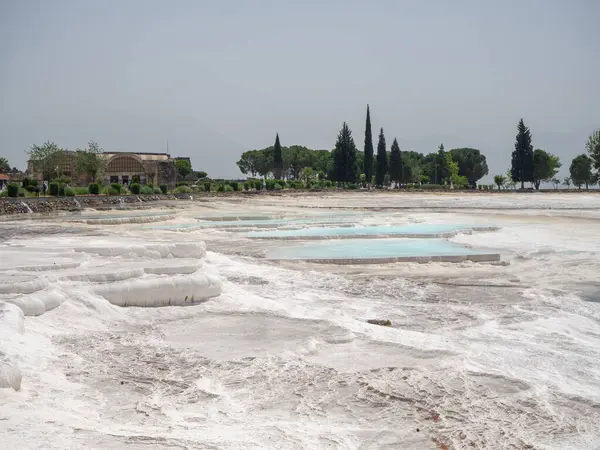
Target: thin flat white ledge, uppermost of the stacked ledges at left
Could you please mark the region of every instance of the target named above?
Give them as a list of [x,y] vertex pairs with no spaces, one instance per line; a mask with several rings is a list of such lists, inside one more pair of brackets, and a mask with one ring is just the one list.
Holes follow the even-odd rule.
[[138,256],[140,258],[204,258],[206,244],[200,242],[181,242],[171,244],[139,244],[125,246],[76,247],[76,252],[91,253],[100,256]]

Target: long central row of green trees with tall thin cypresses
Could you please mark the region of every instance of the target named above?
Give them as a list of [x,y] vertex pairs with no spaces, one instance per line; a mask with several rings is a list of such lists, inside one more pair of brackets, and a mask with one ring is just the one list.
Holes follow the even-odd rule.
[[436,152],[423,155],[402,151],[394,138],[388,150],[383,128],[374,155],[368,106],[363,151],[357,149],[352,131],[344,123],[332,150],[312,150],[300,145],[284,147],[277,134],[274,145],[242,153],[237,166],[251,177],[301,180],[303,174],[306,177],[311,171],[320,180],[377,188],[415,183],[475,187],[489,172],[485,155],[474,148],[446,151],[440,144]]

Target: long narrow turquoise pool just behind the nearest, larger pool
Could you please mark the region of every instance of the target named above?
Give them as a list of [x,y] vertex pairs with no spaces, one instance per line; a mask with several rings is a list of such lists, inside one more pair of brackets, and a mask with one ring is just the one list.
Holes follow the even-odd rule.
[[407,224],[398,226],[365,226],[344,228],[303,228],[297,230],[253,231],[247,234],[251,238],[290,239],[290,238],[332,238],[345,236],[426,236],[454,233],[458,231],[490,230],[490,227],[456,224]]

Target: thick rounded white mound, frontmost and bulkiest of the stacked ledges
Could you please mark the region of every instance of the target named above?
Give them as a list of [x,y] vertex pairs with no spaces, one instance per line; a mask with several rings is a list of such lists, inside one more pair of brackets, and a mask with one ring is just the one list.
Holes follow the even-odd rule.
[[221,279],[210,273],[129,280],[94,292],[117,306],[182,306],[221,295]]

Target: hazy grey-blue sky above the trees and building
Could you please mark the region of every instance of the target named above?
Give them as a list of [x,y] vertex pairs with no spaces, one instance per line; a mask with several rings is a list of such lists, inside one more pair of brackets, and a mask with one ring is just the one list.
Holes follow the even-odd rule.
[[[348,122],[491,180],[522,117],[561,176],[600,128],[596,0],[0,0],[0,156],[55,141],[189,156],[240,177],[249,149],[331,149]],[[374,142],[375,147],[377,142]]]

